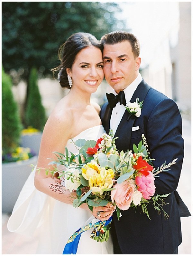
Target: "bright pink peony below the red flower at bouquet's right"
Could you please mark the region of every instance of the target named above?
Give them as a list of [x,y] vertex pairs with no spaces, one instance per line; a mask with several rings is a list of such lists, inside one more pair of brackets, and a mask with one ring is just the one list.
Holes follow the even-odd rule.
[[147,176],[142,175],[142,173],[139,174],[139,176],[135,177],[137,189],[142,193],[144,199],[150,199],[150,196],[153,196],[155,193],[155,178],[153,177],[152,172],[149,172]]

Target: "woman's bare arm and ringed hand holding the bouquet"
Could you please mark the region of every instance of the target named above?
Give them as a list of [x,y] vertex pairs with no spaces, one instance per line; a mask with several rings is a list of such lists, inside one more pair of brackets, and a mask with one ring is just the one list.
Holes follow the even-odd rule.
[[[37,169],[41,169],[36,171],[34,179],[34,185],[39,191],[69,204],[72,204],[73,199],[76,198],[76,192],[70,193],[69,190],[66,190],[65,187],[56,182],[56,178],[54,179],[51,173],[46,174],[45,169],[54,169],[53,166],[48,165],[51,159],[56,159],[52,152],[64,153],[65,145],[69,138],[72,137],[71,131],[73,131],[73,121],[69,113],[68,115],[62,114],[62,116],[58,113],[50,115],[44,127],[38,156]],[[86,203],[82,204],[80,208],[90,211]],[[101,218],[96,216],[97,211],[103,211],[101,212]],[[109,206],[93,207],[92,214],[103,221],[107,220],[112,212],[113,209]]]

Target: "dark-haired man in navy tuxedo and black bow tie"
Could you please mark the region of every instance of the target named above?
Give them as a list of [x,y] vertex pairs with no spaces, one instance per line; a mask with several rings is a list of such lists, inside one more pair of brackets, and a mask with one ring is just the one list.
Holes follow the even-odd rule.
[[[155,179],[155,194],[170,193],[165,199],[167,205],[162,206],[170,217],[165,220],[151,203],[147,206],[151,220],[141,213],[140,207],[136,211],[134,208],[121,211],[120,221],[114,213],[111,228],[114,254],[177,254],[182,242],[180,217],[190,216],[176,191],[184,156],[179,109],[173,100],[142,79],[139,43],[133,34],[112,32],[104,35],[101,43],[105,78],[117,96],[107,95],[109,102],[102,106],[100,117],[106,132],[113,129],[118,137],[117,149],[133,150],[133,143],[138,145],[143,133],[156,169],[178,158],[170,171],[161,172]],[[125,102],[135,102],[136,98],[143,101],[139,117],[124,107]]]

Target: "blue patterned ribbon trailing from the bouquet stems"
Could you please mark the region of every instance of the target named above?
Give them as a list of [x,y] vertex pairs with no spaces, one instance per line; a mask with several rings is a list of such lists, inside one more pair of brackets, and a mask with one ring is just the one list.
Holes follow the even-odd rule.
[[92,222],[90,222],[89,224],[78,229],[76,232],[74,232],[74,234],[67,241],[62,254],[76,254],[77,250],[78,250],[78,243],[79,243],[81,234],[83,232],[85,232],[91,228],[97,228],[100,224],[106,226],[109,223],[111,223],[111,221],[112,221],[112,216],[107,221],[99,221],[94,224],[92,224]]

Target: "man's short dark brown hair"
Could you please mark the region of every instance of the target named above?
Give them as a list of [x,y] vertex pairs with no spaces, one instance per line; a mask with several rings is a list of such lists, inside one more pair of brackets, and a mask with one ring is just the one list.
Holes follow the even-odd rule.
[[132,52],[135,57],[139,56],[140,46],[139,40],[134,34],[131,34],[126,31],[114,31],[108,34],[105,34],[101,37],[101,44],[117,44],[123,41],[129,41],[132,47]]

